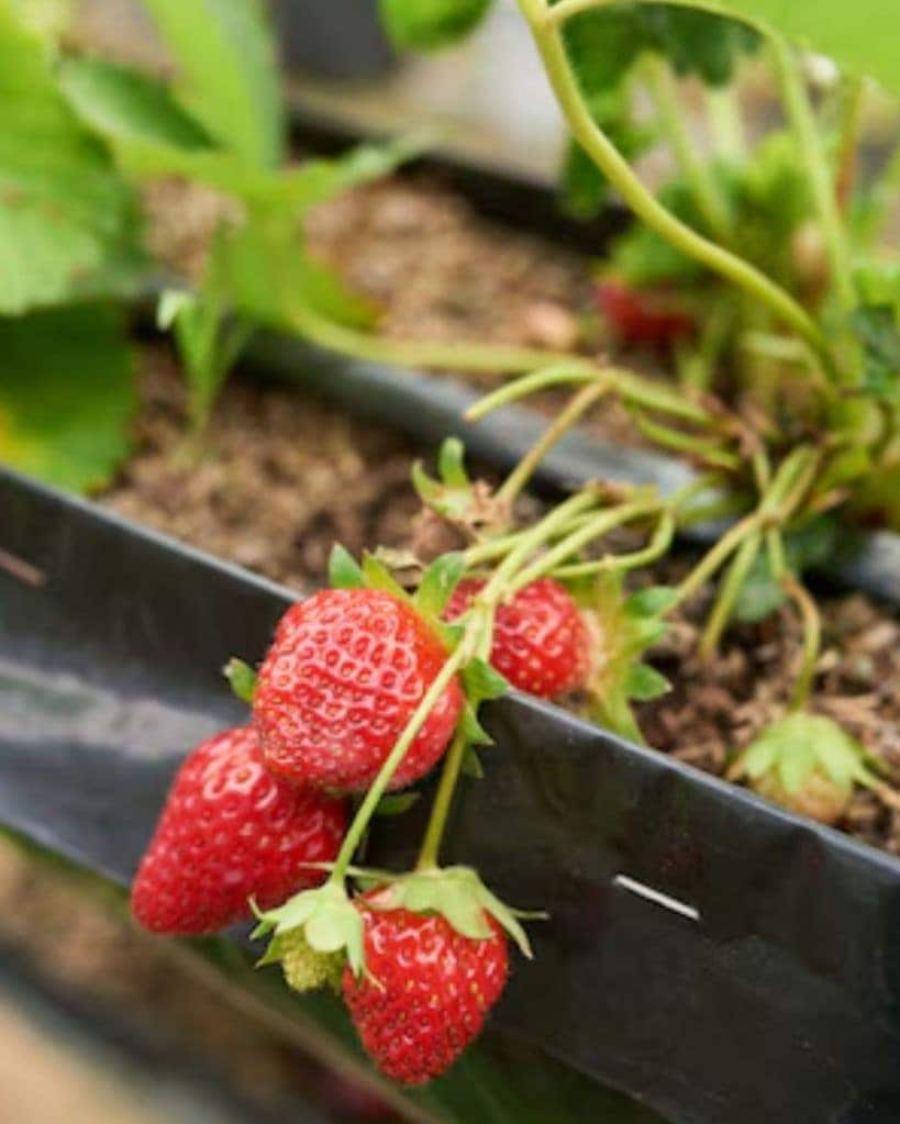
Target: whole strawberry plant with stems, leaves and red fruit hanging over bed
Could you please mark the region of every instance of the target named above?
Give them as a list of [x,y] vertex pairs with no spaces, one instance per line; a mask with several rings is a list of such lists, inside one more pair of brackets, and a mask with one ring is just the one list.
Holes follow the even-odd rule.
[[[192,383],[194,428],[256,325],[347,355],[511,375],[473,419],[547,389],[571,393],[493,490],[470,479],[452,439],[436,479],[415,469],[428,519],[458,549],[375,552],[361,563],[335,549],[331,588],[289,609],[258,672],[229,665],[251,724],[189,758],[134,890],[138,919],[156,932],[208,932],[252,906],[256,936],[270,937],[264,962],[281,962],[299,990],[339,987],[376,1064],[416,1085],[479,1033],[506,984],[510,937],[530,955],[521,922],[540,916],[499,900],[474,869],[440,863],[461,778],[476,778],[480,754],[491,752],[481,708],[510,685],[563,697],[639,740],[642,705],[669,690],[645,656],[678,609],[702,604],[699,655],[711,660],[736,617],[758,620],[789,604],[802,626],[794,681],[783,715],[737,753],[731,776],[826,822],[861,786],[896,803],[876,755],[816,713],[822,622],[803,570],[822,536],[834,541],[871,507],[872,480],[897,471],[897,264],[873,253],[876,220],[854,225],[849,206],[865,85],[848,72],[831,145],[784,38],[809,28],[779,15],[783,6],[518,0],[576,146],[570,197],[588,209],[610,187],[640,220],[615,251],[600,300],[624,336],[678,346],[681,383],[580,355],[380,337],[375,311],[308,254],[303,218],[408,148],[283,166],[258,11],[238,7],[233,19],[212,0],[153,0],[180,64],[172,89],[69,60],[48,93],[70,124],[102,138],[103,171],[115,157],[118,185],[178,175],[238,205],[198,289],[163,302]],[[824,7],[822,46],[896,84],[891,48],[867,55],[858,13]],[[489,8],[382,0],[398,45],[422,49],[470,33]],[[210,58],[197,55],[198,12],[215,33]],[[727,93],[747,53],[769,60],[787,123],[754,152],[742,147]],[[682,74],[710,88],[724,144],[715,158],[693,151],[679,116]],[[649,139],[631,119],[636,83],[649,89],[679,165],[658,193],[629,163]],[[78,241],[89,264],[90,242]],[[745,381],[753,408],[715,395],[722,372]],[[690,461],[693,478],[666,496],[592,482],[529,516],[520,500],[548,450],[612,398],[646,441]],[[675,535],[715,516],[729,522],[713,544],[671,584],[654,584],[652,568]],[[438,765],[413,868],[357,864],[373,817],[404,807],[393,790]]]

